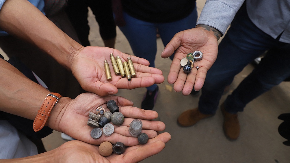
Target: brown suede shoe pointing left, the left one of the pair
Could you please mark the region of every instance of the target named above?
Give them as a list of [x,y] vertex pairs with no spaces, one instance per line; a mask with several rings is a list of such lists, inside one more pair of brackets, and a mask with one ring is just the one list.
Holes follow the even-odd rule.
[[194,125],[196,122],[213,116],[213,114],[203,114],[198,108],[184,111],[177,119],[177,124],[182,127],[189,127]]

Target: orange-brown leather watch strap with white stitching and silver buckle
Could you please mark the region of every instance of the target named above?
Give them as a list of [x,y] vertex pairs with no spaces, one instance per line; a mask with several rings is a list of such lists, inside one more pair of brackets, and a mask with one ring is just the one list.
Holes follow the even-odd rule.
[[33,129],[35,132],[41,130],[44,127],[48,117],[50,116],[52,108],[56,105],[57,101],[61,97],[62,96],[58,93],[51,93],[46,96],[33,122]]

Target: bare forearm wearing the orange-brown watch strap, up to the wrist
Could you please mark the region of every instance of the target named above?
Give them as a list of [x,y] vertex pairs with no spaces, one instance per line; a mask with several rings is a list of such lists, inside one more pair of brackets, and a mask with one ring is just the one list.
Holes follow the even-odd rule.
[[[51,92],[24,76],[19,70],[0,59],[0,110],[34,120],[44,99]],[[62,97],[52,109],[49,120],[55,121],[67,97]],[[31,126],[32,127],[32,126]],[[54,129],[54,127],[52,127]]]

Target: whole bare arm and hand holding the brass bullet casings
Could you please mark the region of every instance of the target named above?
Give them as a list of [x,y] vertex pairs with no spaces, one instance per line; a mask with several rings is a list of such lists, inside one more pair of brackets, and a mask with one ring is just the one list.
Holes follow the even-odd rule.
[[118,89],[149,87],[164,81],[161,70],[148,67],[147,60],[136,56],[131,56],[136,78],[129,82],[121,76],[113,76],[112,81],[107,81],[104,60],[110,61],[110,53],[120,56],[122,62],[130,55],[107,47],[81,46],[26,0],[6,0],[0,11],[0,28],[37,45],[70,69],[84,90],[100,96],[116,94]]

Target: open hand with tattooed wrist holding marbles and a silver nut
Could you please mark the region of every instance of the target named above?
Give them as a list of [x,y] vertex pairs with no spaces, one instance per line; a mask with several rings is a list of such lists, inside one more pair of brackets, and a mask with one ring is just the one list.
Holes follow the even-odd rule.
[[[219,37],[218,37],[219,38]],[[189,74],[183,72],[180,60],[188,53],[199,50],[203,53],[203,58],[194,63]],[[161,54],[162,58],[175,55],[168,74],[168,83],[174,83],[174,90],[182,91],[182,94],[189,95],[194,87],[200,90],[204,84],[207,71],[211,68],[218,55],[218,39],[212,30],[204,26],[181,31],[171,39]],[[197,70],[195,67],[199,67]]]

